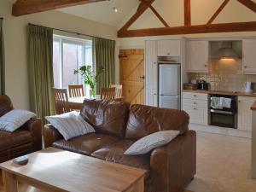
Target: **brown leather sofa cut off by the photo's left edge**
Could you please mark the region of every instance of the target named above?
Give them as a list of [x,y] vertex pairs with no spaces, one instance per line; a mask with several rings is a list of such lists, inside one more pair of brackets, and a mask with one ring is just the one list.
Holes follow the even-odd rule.
[[[9,96],[0,96],[0,117],[13,109]],[[0,163],[42,149],[41,119],[30,119],[17,131],[0,131]]]

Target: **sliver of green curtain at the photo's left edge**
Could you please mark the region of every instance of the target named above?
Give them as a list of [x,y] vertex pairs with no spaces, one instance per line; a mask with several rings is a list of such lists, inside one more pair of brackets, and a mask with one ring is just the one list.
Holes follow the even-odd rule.
[[5,94],[3,19],[0,19],[0,95]]

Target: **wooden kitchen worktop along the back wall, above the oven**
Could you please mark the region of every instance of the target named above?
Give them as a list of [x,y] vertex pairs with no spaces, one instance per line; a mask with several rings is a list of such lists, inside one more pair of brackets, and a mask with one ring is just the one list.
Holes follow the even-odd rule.
[[224,90],[183,90],[183,92],[192,92],[192,93],[206,93],[206,94],[218,94],[218,95],[227,95],[227,96],[251,96],[256,97],[256,93],[246,93],[240,91],[224,91]]

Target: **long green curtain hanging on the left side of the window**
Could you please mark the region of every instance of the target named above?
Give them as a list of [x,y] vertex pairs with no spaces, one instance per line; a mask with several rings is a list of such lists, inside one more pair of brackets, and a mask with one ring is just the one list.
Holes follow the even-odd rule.
[[54,113],[53,30],[28,26],[28,76],[31,110],[43,119]]

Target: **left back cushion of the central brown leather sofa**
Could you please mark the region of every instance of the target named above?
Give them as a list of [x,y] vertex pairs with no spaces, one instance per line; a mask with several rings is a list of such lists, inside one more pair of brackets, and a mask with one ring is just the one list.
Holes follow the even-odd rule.
[[130,105],[113,100],[84,100],[82,117],[96,132],[125,137],[125,127]]

